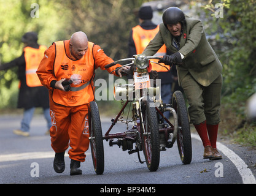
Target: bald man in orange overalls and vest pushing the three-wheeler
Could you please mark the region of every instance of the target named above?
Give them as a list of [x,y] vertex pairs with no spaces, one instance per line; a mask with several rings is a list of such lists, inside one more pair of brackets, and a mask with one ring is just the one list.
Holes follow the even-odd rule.
[[[80,175],[80,162],[85,161],[89,146],[88,103],[95,100],[93,78],[98,67],[114,62],[95,43],[88,42],[84,32],[75,32],[70,40],[53,42],[45,51],[37,69],[42,85],[48,88],[52,127],[50,136],[55,151],[53,168],[65,169],[64,153],[68,151],[70,175]],[[112,72],[120,65],[107,69]],[[122,67],[115,75],[122,77]]]

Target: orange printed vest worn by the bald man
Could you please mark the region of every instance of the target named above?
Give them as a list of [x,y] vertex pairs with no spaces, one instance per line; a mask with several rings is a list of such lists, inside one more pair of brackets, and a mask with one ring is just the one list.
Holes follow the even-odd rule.
[[[68,40],[66,40],[68,41]],[[79,76],[78,80],[73,80],[71,91],[61,91],[53,89],[52,100],[56,104],[75,107],[88,104],[94,100],[93,76],[95,73],[95,59],[93,58],[94,43],[88,42],[88,50],[82,59],[72,60],[66,54],[64,42],[54,42],[56,46],[56,56],[54,62],[54,74],[56,80],[63,78],[72,79],[72,75]]]

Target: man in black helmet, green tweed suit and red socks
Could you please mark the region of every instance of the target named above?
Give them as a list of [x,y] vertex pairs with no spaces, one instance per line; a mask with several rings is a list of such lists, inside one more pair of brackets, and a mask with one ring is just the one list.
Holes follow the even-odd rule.
[[201,21],[185,17],[177,7],[169,7],[163,13],[160,30],[143,54],[154,55],[164,43],[173,55],[163,56],[160,62],[177,66],[179,85],[188,99],[190,121],[203,141],[203,157],[222,159],[216,148],[222,64],[206,39]]

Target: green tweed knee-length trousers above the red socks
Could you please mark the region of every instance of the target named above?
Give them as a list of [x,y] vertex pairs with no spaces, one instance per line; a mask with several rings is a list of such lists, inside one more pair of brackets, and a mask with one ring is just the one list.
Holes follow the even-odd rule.
[[211,85],[202,86],[192,75],[187,74],[180,82],[180,86],[188,100],[190,123],[200,124],[205,120],[207,124],[220,123],[222,75],[219,75]]

